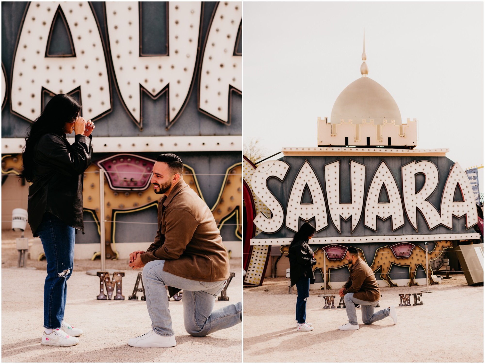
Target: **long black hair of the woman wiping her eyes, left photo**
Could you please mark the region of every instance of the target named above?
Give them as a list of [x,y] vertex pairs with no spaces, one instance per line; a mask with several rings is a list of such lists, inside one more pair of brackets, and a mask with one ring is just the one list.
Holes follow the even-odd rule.
[[32,164],[35,144],[45,134],[64,135],[65,124],[72,123],[80,110],[81,104],[72,96],[58,94],[50,99],[40,116],[34,120],[25,137],[25,148],[22,152],[23,170],[19,177],[33,182]]

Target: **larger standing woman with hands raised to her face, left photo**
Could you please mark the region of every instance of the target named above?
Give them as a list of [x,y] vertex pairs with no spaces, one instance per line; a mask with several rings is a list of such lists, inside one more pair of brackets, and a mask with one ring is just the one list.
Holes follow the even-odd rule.
[[[66,281],[74,264],[75,231],[84,233],[83,173],[91,163],[91,120],[79,116],[81,105],[69,95],[54,96],[25,138],[20,177],[29,187],[28,218],[40,236],[47,259],[42,345],[72,346],[82,334],[64,321]],[[75,132],[74,143],[66,134]]]

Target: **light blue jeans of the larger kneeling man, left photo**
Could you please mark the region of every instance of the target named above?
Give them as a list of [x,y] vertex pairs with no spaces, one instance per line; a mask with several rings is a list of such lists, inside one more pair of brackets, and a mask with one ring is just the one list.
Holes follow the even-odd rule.
[[172,318],[165,285],[183,289],[182,303],[185,330],[192,336],[206,336],[242,322],[241,302],[212,311],[217,295],[226,285],[218,282],[192,281],[163,271],[164,260],[148,262],[143,268],[146,307],[152,328],[162,336],[172,336]]

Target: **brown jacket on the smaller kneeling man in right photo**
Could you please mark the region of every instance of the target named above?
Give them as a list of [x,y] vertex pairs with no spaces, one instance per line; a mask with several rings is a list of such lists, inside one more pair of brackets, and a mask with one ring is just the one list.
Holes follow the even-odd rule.
[[363,301],[375,302],[381,299],[381,290],[375,280],[374,272],[362,259],[350,267],[350,276],[343,286],[343,294],[354,293],[354,297]]

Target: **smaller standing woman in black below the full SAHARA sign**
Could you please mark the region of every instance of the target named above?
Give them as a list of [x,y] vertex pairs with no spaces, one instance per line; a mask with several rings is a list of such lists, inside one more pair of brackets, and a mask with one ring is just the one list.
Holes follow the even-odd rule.
[[307,298],[310,295],[310,284],[315,283],[312,266],[317,264],[316,259],[313,258],[313,251],[308,245],[308,239],[311,239],[314,233],[315,227],[306,222],[295,234],[290,245],[290,284],[291,286],[296,284],[298,291],[296,298],[297,331],[313,330],[312,324],[305,320],[307,318]]

